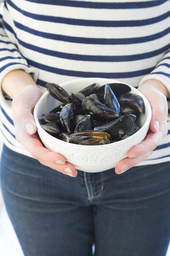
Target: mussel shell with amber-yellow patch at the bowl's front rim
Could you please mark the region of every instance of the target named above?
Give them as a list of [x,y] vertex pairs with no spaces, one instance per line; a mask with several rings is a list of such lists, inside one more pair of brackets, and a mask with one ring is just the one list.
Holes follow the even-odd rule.
[[71,137],[70,135],[70,141],[74,144],[79,145],[104,145],[110,143],[110,141],[104,137],[95,137],[95,136],[77,136],[77,137]]

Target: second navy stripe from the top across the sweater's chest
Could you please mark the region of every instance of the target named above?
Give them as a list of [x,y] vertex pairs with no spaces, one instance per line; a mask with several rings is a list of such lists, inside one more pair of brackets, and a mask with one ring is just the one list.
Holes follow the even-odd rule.
[[[64,1],[62,1],[64,2]],[[72,1],[69,1],[72,2]],[[75,1],[77,2],[77,1]],[[18,6],[16,6],[11,0],[7,1],[15,10],[21,12],[26,17],[31,19],[40,20],[40,21],[48,21],[48,22],[55,22],[55,23],[63,23],[68,25],[75,25],[75,26],[88,26],[88,27],[139,27],[139,26],[147,26],[162,20],[167,19],[170,16],[170,11],[159,15],[158,17],[145,19],[145,20],[119,20],[119,21],[108,21],[108,20],[83,20],[83,19],[71,19],[71,18],[63,18],[63,17],[55,17],[49,15],[40,15],[34,14],[30,12],[23,11]],[[104,3],[106,4],[106,3]]]

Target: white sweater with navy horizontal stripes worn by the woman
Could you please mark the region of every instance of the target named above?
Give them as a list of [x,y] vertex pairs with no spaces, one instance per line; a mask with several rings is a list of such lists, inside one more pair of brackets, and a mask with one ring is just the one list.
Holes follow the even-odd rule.
[[[157,79],[170,92],[169,0],[6,0],[0,37],[0,83],[10,71],[23,69],[43,92],[47,82],[82,77],[135,87]],[[0,102],[2,140],[30,156],[15,140],[11,101],[2,92]],[[167,136],[139,165],[169,161],[169,146],[170,122]]]

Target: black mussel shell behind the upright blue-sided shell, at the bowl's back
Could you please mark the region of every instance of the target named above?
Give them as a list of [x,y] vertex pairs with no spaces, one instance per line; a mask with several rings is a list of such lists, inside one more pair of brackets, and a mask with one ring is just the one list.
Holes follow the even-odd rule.
[[[109,83],[109,86],[111,87],[116,97],[131,91],[131,87],[123,83]],[[105,93],[105,84],[100,86],[96,92],[96,95],[99,98],[99,101],[101,101],[102,103],[104,99],[104,93]]]

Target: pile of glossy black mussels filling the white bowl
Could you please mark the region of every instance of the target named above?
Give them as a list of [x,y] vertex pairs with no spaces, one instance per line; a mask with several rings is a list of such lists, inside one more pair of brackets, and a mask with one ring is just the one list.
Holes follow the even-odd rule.
[[91,84],[69,95],[60,85],[47,83],[52,97],[63,102],[39,118],[55,138],[79,145],[103,145],[130,137],[140,127],[143,99],[123,83]]

